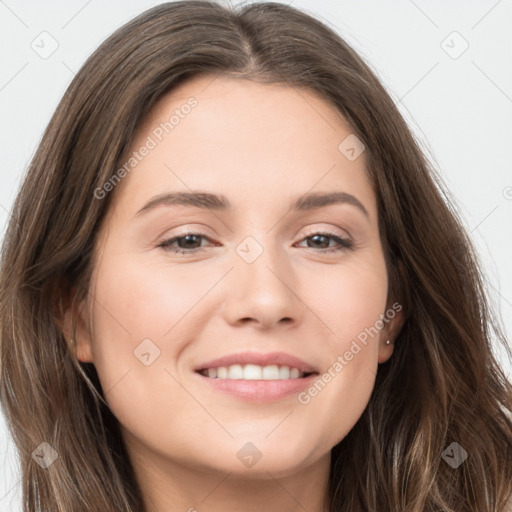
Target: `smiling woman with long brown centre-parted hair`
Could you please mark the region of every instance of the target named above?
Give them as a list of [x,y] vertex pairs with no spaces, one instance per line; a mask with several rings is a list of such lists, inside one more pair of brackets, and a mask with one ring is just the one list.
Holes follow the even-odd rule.
[[119,29],[4,241],[24,510],[505,511],[507,344],[443,196],[299,10],[175,2]]

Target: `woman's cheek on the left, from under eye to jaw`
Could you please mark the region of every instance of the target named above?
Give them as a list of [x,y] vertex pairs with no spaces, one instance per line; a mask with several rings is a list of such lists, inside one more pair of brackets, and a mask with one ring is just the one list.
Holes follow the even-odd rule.
[[159,421],[169,417],[171,403],[190,401],[171,375],[190,326],[198,324],[194,305],[212,286],[195,282],[192,272],[173,272],[167,282],[163,276],[170,274],[105,254],[95,275],[94,365],[112,412],[139,438],[166,428]]

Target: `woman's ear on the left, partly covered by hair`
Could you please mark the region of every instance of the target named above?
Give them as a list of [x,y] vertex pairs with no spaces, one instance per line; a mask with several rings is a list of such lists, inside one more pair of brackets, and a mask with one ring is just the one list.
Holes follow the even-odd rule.
[[[93,363],[87,293],[75,304],[76,287],[71,288],[69,300],[63,308],[60,327],[71,353],[82,363]],[[74,341],[73,343],[71,341]]]

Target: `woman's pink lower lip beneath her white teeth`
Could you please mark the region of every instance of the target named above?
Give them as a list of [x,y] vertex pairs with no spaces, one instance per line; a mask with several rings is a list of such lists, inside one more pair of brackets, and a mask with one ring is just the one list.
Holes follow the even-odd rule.
[[212,379],[199,373],[197,375],[218,391],[252,402],[271,402],[287,398],[311,386],[318,377],[315,373],[301,379],[243,380]]

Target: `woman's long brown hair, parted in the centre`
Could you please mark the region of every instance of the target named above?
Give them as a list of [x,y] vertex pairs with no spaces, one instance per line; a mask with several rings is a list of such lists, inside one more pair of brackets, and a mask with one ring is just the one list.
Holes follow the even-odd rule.
[[[115,191],[94,192],[155,102],[199,74],[321,94],[366,146],[389,299],[405,322],[363,415],[332,449],[336,512],[497,512],[512,495],[512,360],[475,250],[441,179],[370,67],[298,9],[178,1],[111,35],[77,73],[14,203],[0,269],[1,404],[19,450],[26,512],[144,510],[94,365],[61,329],[89,293],[96,234]],[[72,292],[75,291],[76,293]],[[59,454],[43,469],[47,442]],[[456,469],[442,458],[458,443]]]

